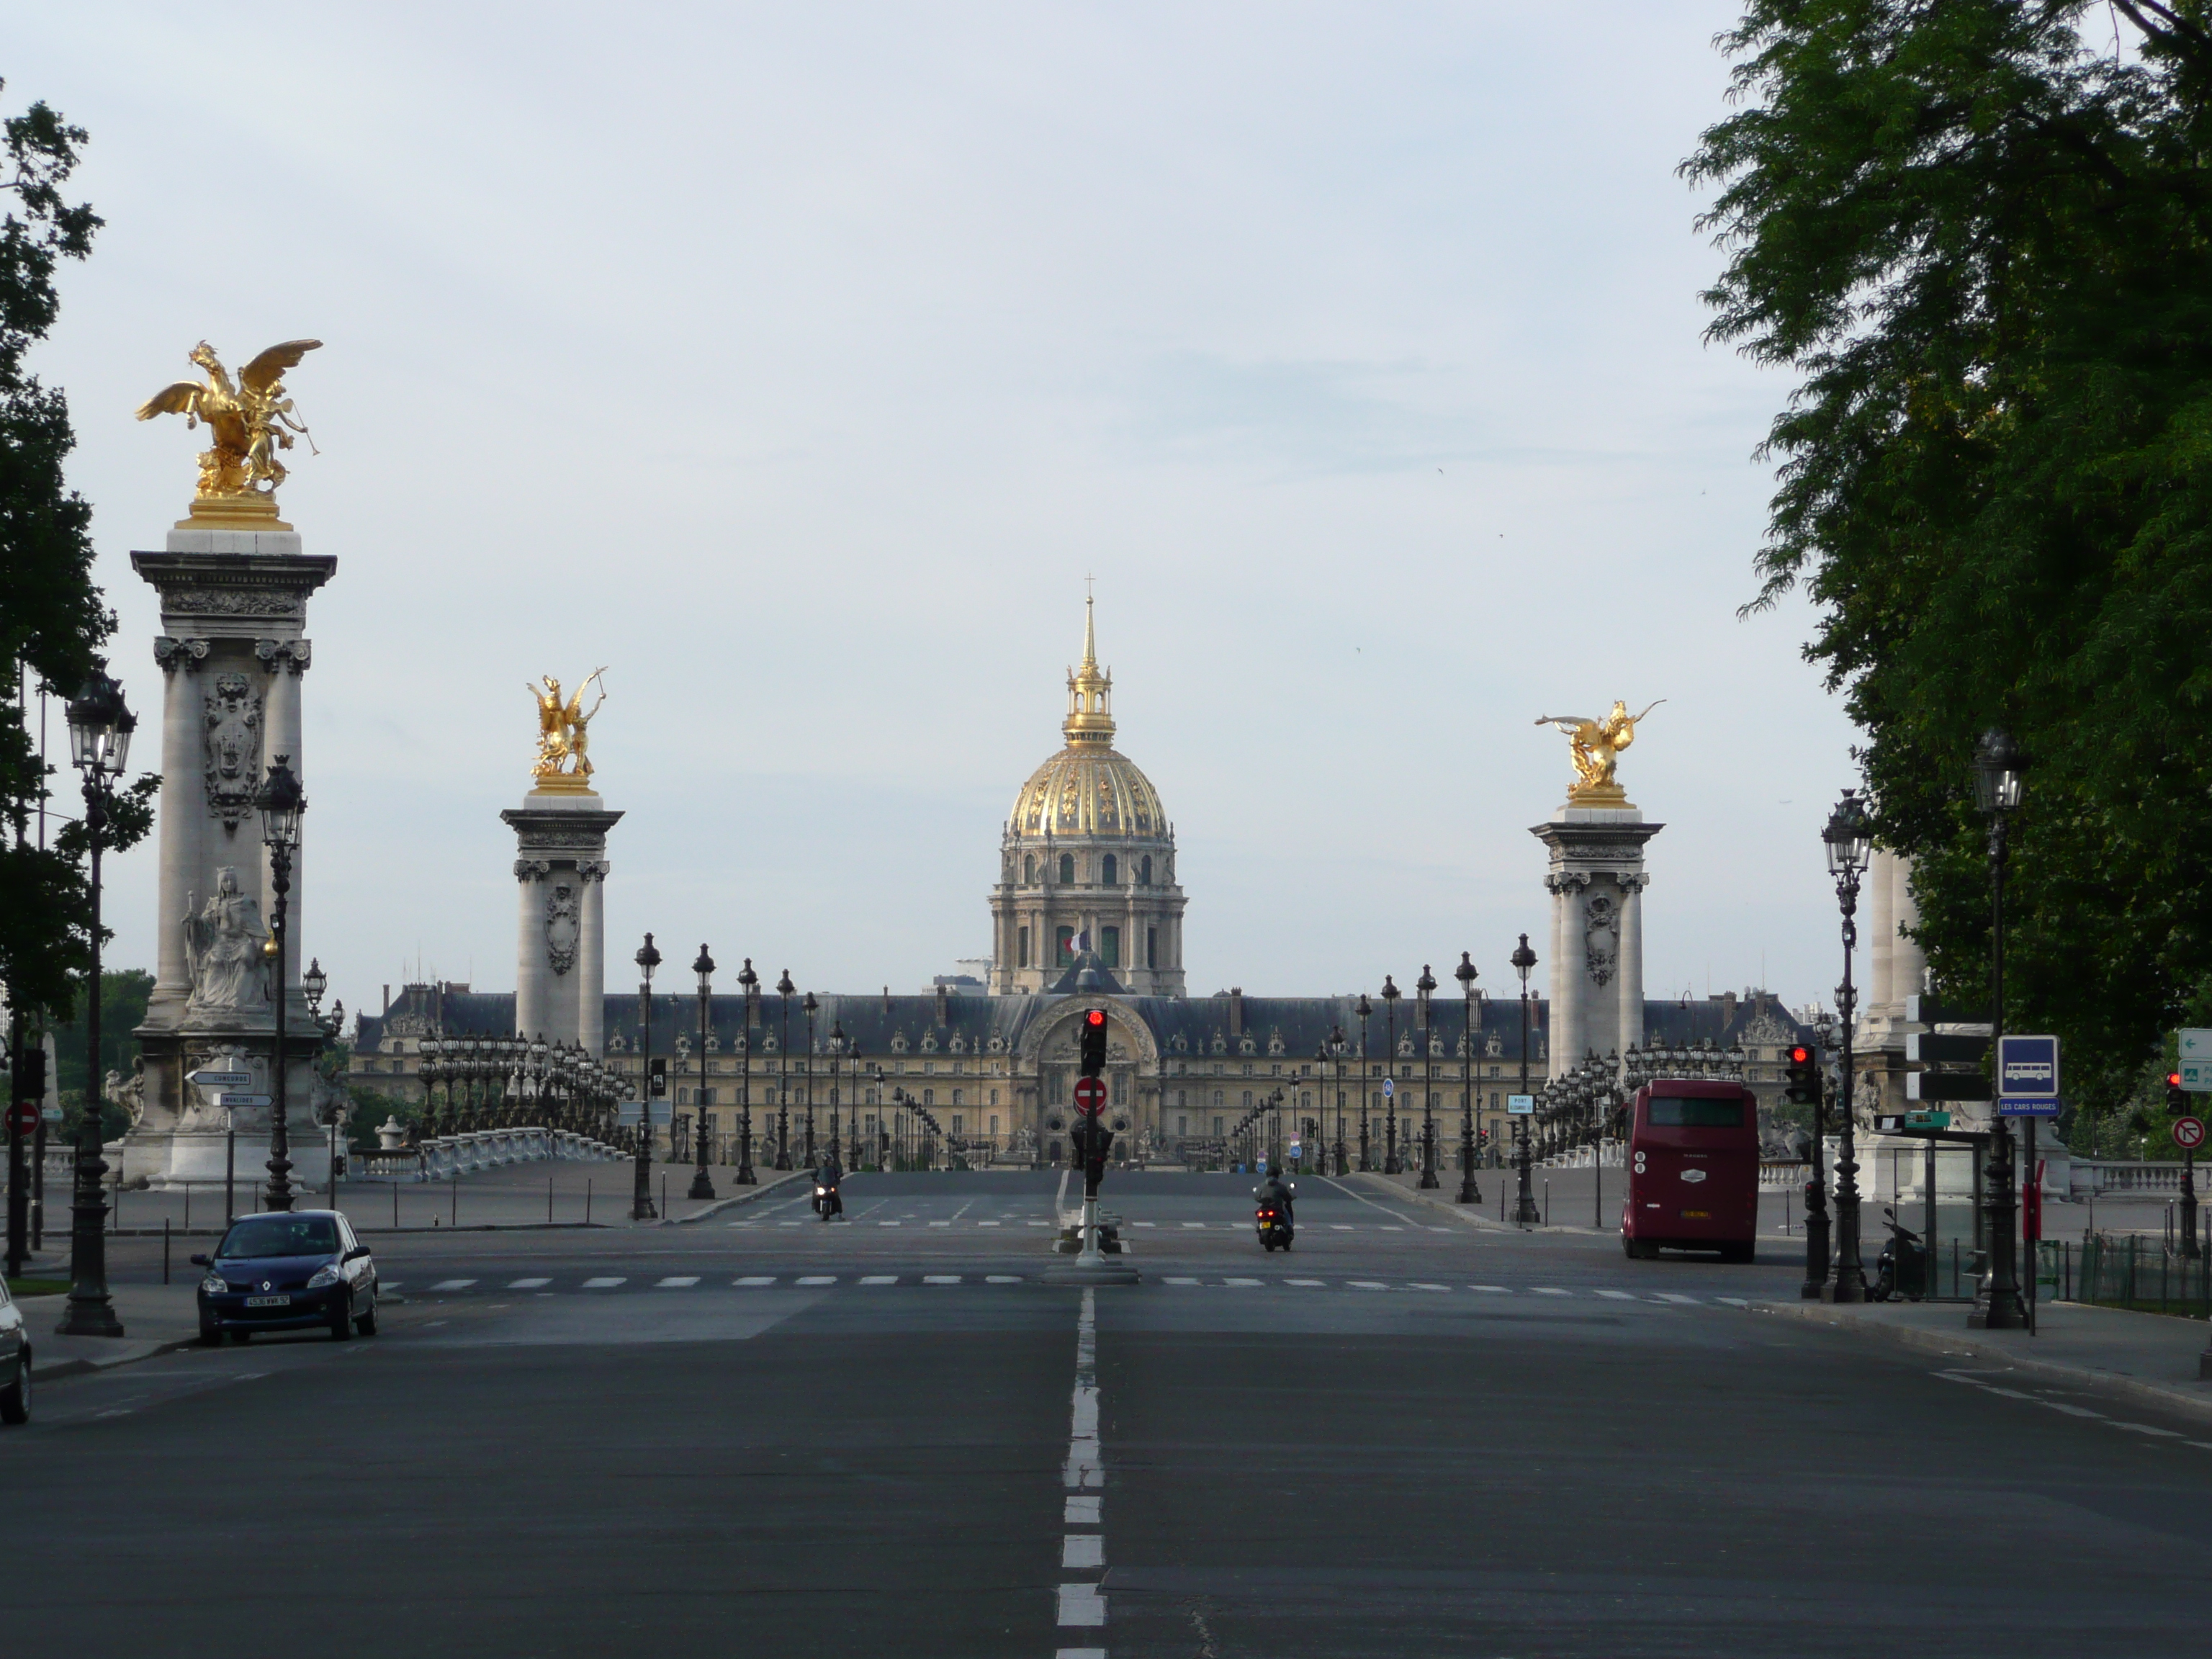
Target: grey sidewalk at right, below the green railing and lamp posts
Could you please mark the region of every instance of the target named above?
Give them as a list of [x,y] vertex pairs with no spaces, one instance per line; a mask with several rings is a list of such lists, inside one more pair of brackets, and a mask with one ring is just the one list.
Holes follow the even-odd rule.
[[1962,1367],[1995,1360],[2046,1383],[2212,1418],[2212,1383],[2197,1378],[2208,1336],[2199,1318],[2039,1303],[2037,1332],[2028,1336],[1966,1329],[1969,1303],[1770,1301],[1752,1303],[1752,1312],[1900,1343]]

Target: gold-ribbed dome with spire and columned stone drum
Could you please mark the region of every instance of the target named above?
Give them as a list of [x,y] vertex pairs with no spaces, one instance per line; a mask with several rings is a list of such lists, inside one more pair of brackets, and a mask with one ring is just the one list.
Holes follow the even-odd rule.
[[1068,672],[1066,748],[1031,772],[1000,836],[991,991],[1048,991],[1091,951],[1130,995],[1183,995],[1175,827],[1152,781],[1115,750],[1113,675],[1084,599],[1084,661]]

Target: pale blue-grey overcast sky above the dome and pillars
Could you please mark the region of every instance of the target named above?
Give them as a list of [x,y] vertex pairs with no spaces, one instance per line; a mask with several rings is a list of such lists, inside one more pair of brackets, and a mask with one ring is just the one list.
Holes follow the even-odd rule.
[[[281,507],[338,557],[303,949],[347,1006],[513,984],[522,684],[597,664],[611,989],[644,929],[838,991],[987,953],[1086,575],[1194,993],[1462,949],[1504,993],[1571,776],[1535,717],[1666,697],[1621,761],[1666,823],[1646,984],[1827,1000],[1851,732],[1809,613],[1736,617],[1790,387],[1701,343],[1674,177],[1732,20],[18,9],[0,102],[91,131],[108,221],[38,367],[133,706],[128,551],[201,445],[131,411],[199,338],[316,336]],[[153,962],[153,867],[108,865],[115,964]]]

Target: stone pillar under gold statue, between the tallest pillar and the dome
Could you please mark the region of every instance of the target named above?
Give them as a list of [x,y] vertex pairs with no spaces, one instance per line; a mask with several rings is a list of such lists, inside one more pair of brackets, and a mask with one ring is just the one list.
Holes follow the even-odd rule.
[[515,942],[515,1035],[606,1040],[606,832],[619,821],[588,787],[531,790],[500,818],[515,832],[522,885]]

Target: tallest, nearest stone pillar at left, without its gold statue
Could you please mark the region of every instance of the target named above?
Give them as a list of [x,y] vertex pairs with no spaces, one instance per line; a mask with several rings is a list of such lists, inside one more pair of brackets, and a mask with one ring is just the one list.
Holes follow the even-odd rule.
[[[274,524],[274,518],[270,518]],[[292,1179],[327,1179],[319,1117],[327,1091],[314,1062],[323,1033],[307,1011],[299,973],[307,949],[305,841],[292,863],[285,984],[259,953],[274,914],[261,814],[252,799],[270,761],[288,757],[314,796],[301,741],[301,681],[312,661],[307,595],[338,562],[301,553],[299,533],[210,529],[186,522],[161,553],[131,564],[161,595],[153,644],[164,675],[159,907],[155,987],[137,1029],[146,1055],[142,1113],[124,1137],[126,1181],[221,1181],[223,1128],[234,1119],[241,1188],[268,1175],[268,1108],[223,1113],[186,1086],[201,1066],[254,1075],[246,1093],[272,1093],[276,995],[285,998],[288,1126]]]

